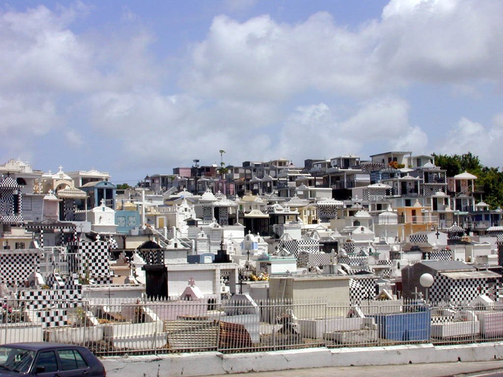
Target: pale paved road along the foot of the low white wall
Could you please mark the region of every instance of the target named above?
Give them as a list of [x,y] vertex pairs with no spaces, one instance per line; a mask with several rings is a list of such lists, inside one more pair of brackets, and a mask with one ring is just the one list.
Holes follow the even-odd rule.
[[[243,374],[239,375],[244,377]],[[371,377],[499,377],[503,376],[503,361],[337,366],[245,373],[245,377],[360,377],[362,375]],[[207,377],[217,377],[217,375]]]

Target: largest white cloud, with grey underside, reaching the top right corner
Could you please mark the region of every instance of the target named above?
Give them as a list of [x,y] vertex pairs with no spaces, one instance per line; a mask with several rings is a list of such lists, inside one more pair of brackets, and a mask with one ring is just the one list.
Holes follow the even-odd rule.
[[502,83],[503,3],[392,0],[349,30],[320,12],[282,24],[215,17],[182,79],[207,97],[282,100],[306,89],[376,96],[416,82]]

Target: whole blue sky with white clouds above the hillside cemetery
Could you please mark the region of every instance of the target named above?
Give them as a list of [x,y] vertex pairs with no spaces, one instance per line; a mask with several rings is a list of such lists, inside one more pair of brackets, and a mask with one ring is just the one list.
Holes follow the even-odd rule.
[[497,0],[0,0],[0,163],[136,182],[220,162],[503,165]]

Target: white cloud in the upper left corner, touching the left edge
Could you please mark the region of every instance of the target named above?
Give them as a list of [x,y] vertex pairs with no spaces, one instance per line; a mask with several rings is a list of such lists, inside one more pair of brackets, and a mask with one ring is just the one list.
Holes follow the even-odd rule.
[[98,79],[92,50],[67,29],[73,17],[43,6],[0,14],[4,90],[86,90]]

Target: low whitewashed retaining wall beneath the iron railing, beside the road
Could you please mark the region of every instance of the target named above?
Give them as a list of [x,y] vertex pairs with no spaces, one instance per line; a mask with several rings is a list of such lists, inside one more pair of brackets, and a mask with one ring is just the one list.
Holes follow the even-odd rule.
[[[199,352],[158,356],[105,357],[107,376],[193,377],[323,366],[389,365],[503,359],[503,342],[433,344],[222,354]],[[139,374],[140,373],[140,374]]]

